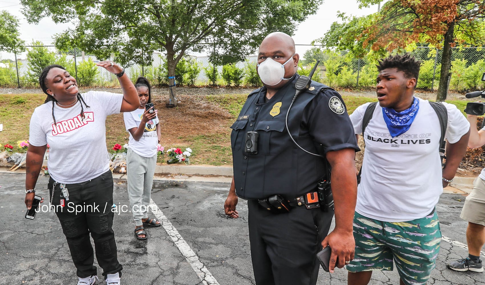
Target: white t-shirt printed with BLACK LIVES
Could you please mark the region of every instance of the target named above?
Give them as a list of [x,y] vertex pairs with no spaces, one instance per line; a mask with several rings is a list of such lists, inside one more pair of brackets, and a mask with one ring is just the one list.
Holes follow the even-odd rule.
[[[384,222],[404,222],[428,215],[443,192],[438,152],[441,127],[428,100],[411,127],[392,138],[377,104],[363,135],[365,153],[357,190],[356,212]],[[362,134],[362,120],[370,103],[359,106],[350,119],[356,134]],[[469,130],[469,122],[452,105],[448,111],[445,137],[456,143]]]

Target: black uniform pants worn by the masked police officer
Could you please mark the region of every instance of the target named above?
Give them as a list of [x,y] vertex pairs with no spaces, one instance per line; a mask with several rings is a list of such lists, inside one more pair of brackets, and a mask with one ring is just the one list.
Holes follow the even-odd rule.
[[328,234],[333,212],[292,207],[274,214],[247,201],[249,241],[257,285],[315,285],[320,263],[317,252]]

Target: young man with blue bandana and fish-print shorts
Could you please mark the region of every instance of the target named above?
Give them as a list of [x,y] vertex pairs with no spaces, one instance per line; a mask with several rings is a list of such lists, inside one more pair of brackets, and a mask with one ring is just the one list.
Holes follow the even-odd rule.
[[389,56],[377,65],[377,99],[362,134],[364,113],[350,116],[365,154],[358,185],[355,259],[346,266],[349,285],[367,285],[373,270],[392,270],[401,285],[425,285],[435,267],[441,233],[435,206],[453,179],[467,149],[469,123],[447,103],[446,164],[438,152],[441,127],[427,100],[415,97],[420,62],[409,54]]

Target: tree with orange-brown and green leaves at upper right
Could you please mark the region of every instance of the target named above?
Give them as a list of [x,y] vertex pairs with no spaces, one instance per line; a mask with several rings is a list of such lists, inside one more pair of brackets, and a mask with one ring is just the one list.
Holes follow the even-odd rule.
[[[361,6],[368,6],[376,0],[359,2]],[[481,46],[485,41],[483,0],[389,0],[380,12],[369,17],[371,21],[356,37],[357,47],[361,44],[382,53],[424,42],[443,49],[437,101],[446,99],[452,47],[456,43]],[[356,27],[350,30],[358,31]]]

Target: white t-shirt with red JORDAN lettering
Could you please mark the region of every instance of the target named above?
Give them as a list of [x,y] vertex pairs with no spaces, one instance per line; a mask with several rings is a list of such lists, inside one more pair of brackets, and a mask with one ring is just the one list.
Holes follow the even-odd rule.
[[81,94],[89,108],[81,102],[61,108],[54,104],[56,125],[52,119],[52,103],[33,111],[29,143],[43,146],[49,143],[49,174],[59,183],[80,183],[96,178],[109,170],[106,149],[106,116],[119,113],[122,94],[89,91]]

